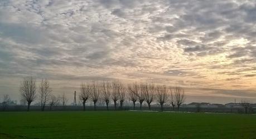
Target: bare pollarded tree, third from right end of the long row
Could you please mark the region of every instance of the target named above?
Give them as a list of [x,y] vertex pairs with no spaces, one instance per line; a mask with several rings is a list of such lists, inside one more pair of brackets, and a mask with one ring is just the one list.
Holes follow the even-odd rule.
[[163,85],[163,86],[161,86],[161,85],[156,86],[156,92],[157,92],[157,101],[161,105],[161,111],[163,111],[163,104],[167,100],[166,86],[165,85]]

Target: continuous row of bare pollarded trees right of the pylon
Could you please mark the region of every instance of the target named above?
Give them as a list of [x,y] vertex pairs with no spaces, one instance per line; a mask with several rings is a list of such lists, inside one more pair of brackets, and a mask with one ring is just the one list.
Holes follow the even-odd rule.
[[[135,109],[137,101],[140,104],[140,108],[142,108],[142,103],[144,101],[147,102],[149,110],[151,110],[151,103],[153,101],[160,103],[161,110],[163,110],[163,105],[169,100],[171,100],[173,109],[176,105],[179,109],[181,104],[185,102],[185,93],[182,88],[170,87],[167,89],[165,85],[154,85],[153,83],[135,82],[125,87],[120,81],[91,81],[81,83],[80,91],[80,100],[83,102],[84,110],[85,103],[89,98],[94,102],[94,108],[96,108],[96,103],[99,100],[99,97],[102,97],[105,101],[107,110],[109,108],[110,101],[114,103],[115,109],[117,108],[117,102],[119,101],[120,108],[122,108],[125,98],[128,98],[133,102],[133,109]],[[171,96],[171,99],[169,99],[169,96]]]

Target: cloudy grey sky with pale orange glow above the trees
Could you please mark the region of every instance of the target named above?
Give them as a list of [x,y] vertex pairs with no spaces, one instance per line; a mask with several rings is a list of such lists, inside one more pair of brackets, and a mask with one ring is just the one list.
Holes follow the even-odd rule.
[[2,0],[0,101],[24,76],[185,88],[186,102],[256,103],[256,1]]

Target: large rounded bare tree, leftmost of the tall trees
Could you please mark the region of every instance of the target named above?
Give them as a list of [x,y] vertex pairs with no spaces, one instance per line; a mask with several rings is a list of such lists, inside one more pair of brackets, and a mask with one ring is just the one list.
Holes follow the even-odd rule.
[[31,102],[36,100],[36,78],[24,77],[20,87],[21,96],[27,101],[27,111],[30,111]]

